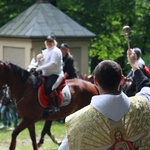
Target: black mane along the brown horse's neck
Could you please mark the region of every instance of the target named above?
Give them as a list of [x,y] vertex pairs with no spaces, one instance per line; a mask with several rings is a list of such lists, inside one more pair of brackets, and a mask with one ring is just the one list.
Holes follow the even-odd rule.
[[30,72],[21,68],[20,66],[13,64],[11,62],[4,62],[4,63],[6,66],[10,66],[12,69],[12,72],[16,74],[17,76],[20,76],[20,78],[24,81],[26,81],[28,77],[30,76]]

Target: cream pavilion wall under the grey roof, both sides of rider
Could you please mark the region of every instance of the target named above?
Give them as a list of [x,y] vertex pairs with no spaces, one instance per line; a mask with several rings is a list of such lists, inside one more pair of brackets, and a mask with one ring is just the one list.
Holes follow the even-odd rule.
[[[62,42],[68,44],[78,73],[88,73],[89,39],[57,39],[58,47]],[[42,39],[0,38],[0,60],[11,61],[27,69],[32,58],[44,48]]]

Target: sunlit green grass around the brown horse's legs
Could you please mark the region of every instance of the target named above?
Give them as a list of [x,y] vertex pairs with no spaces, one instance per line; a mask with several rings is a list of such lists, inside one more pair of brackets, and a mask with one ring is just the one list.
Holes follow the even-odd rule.
[[[44,125],[44,121],[38,121],[35,124],[37,142],[39,141],[43,125]],[[53,122],[51,132],[55,136],[55,138],[58,140],[58,142],[62,141],[66,133],[65,124]],[[11,141],[11,133],[12,131],[10,131],[9,128],[0,130],[0,141],[1,141],[0,150],[9,149],[9,145]],[[16,150],[32,150],[32,149],[33,149],[32,143],[31,143],[28,130],[25,129],[17,137]],[[48,135],[45,136],[44,144],[39,148],[39,150],[57,150],[57,149],[58,149],[58,145],[53,143],[52,140],[48,137]]]

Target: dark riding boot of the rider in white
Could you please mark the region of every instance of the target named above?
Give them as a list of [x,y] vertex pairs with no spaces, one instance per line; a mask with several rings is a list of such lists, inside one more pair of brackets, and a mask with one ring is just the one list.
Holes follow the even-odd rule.
[[50,93],[50,99],[49,99],[49,101],[51,101],[53,107],[52,107],[52,109],[49,112],[52,112],[52,113],[58,113],[58,112],[60,112],[60,109],[58,108],[58,99],[57,99],[57,96],[58,96],[58,93],[57,93],[56,90],[53,90]]

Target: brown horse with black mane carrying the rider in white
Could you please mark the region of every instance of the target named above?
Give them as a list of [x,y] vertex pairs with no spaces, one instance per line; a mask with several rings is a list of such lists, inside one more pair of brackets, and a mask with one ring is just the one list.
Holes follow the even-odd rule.
[[[12,96],[16,99],[17,111],[22,121],[13,131],[10,150],[15,150],[18,134],[28,128],[34,150],[38,150],[35,136],[35,122],[43,118],[45,108],[38,100],[38,89],[33,88],[29,77],[30,73],[21,67],[7,62],[0,61],[0,88],[7,84],[11,88]],[[95,85],[81,80],[66,80],[71,92],[71,102],[69,105],[60,107],[60,112],[49,114],[47,120],[57,120],[64,118],[74,111],[90,103],[91,97],[98,94]]]

